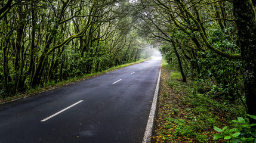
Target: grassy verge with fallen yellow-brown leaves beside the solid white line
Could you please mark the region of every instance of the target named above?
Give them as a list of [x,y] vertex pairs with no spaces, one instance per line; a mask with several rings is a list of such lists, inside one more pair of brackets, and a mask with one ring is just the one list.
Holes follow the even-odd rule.
[[214,126],[229,126],[243,107],[214,100],[202,92],[207,88],[203,83],[181,82],[181,74],[163,63],[152,142],[225,142],[213,139],[218,133]]

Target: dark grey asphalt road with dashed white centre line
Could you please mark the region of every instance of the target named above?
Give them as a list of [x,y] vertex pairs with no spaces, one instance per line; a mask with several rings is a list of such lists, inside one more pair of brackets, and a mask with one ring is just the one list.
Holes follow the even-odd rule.
[[161,59],[0,105],[0,143],[141,142]]

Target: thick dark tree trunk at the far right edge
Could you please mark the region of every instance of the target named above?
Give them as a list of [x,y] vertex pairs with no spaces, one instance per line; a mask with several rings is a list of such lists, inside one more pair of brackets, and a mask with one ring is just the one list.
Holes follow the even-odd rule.
[[[256,21],[251,0],[233,0],[238,26],[248,114],[256,115]],[[251,119],[250,123],[256,123]]]

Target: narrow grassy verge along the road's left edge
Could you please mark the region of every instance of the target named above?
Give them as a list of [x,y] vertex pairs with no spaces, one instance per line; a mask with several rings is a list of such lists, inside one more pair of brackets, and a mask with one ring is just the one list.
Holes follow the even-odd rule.
[[44,91],[47,91],[49,89],[58,88],[58,87],[61,87],[61,86],[66,86],[66,85],[69,85],[69,84],[73,84],[75,82],[79,82],[81,80],[85,80],[85,79],[88,79],[90,77],[98,76],[100,74],[104,74],[104,73],[107,73],[107,72],[110,72],[110,71],[113,71],[113,70],[121,69],[122,67],[131,66],[132,64],[138,64],[138,63],[141,63],[141,62],[149,60],[149,59],[150,58],[144,59],[144,60],[139,60],[139,61],[136,61],[134,63],[122,64],[122,65],[112,67],[112,68],[104,70],[104,71],[98,71],[98,72],[91,73],[91,74],[84,74],[84,76],[73,77],[73,78],[70,78],[68,80],[63,80],[63,81],[58,82],[58,83],[55,83],[54,80],[53,80],[51,82],[45,83],[43,86],[37,86],[36,88],[29,89],[23,94],[20,93],[20,94],[17,94],[16,96],[14,96],[14,97],[7,97],[5,99],[0,99],[0,104],[5,103],[5,102],[14,101],[14,100],[19,100],[21,98],[27,98],[27,97],[30,97],[32,95],[36,95],[39,92],[44,92]]

